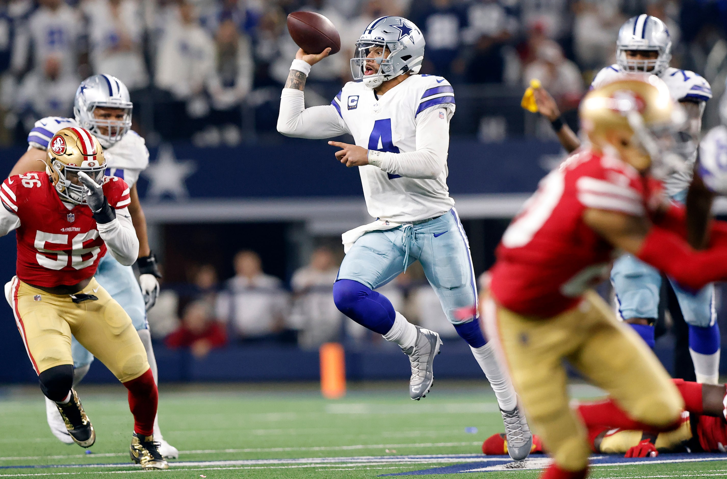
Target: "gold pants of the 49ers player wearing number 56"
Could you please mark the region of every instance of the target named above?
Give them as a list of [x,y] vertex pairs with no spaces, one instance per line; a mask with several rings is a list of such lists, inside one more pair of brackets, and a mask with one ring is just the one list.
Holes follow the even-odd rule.
[[146,351],[129,314],[95,278],[79,293],[98,299],[76,304],[69,295],[46,293],[17,277],[6,285],[6,298],[36,373],[73,364],[71,334],[119,381],[145,373],[149,369]]

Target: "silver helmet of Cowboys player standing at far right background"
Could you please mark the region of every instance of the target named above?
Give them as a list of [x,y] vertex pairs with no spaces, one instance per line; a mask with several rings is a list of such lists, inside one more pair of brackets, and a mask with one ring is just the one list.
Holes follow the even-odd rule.
[[[632,60],[627,50],[659,52],[653,60]],[[624,71],[646,71],[656,76],[669,68],[672,59],[672,38],[667,25],[651,15],[631,17],[619,30],[616,40],[616,62]]]

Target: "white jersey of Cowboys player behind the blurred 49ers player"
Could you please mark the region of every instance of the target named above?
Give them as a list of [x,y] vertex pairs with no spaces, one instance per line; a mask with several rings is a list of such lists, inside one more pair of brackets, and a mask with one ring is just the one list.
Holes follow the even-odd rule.
[[[614,77],[624,74],[625,72],[618,64],[607,66],[598,72],[593,79],[591,88],[598,88],[601,85],[610,82]],[[712,98],[712,88],[710,83],[704,77],[694,73],[694,71],[680,70],[678,68],[667,68],[664,73],[659,75],[669,88],[670,95],[675,101],[691,101],[699,103]],[[694,163],[696,154],[690,159],[690,163]],[[686,168],[683,172],[670,175],[664,180],[664,190],[673,197],[685,191],[691,183],[692,168]]]

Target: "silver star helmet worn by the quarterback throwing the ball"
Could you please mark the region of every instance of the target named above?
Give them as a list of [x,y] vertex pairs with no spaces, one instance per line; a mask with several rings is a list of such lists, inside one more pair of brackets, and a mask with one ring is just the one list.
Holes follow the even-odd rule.
[[[363,80],[366,87],[376,88],[383,82],[401,74],[419,73],[424,60],[424,35],[403,17],[380,17],[369,23],[356,41],[356,52],[351,58],[351,74],[355,80]],[[368,58],[375,47],[382,47],[381,55]],[[385,52],[388,56],[384,58]],[[365,75],[368,61],[379,64],[379,71]]]

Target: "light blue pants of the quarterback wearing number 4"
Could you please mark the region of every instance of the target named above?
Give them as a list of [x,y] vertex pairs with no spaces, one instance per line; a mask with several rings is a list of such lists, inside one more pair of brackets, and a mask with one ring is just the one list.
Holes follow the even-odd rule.
[[401,274],[405,262],[417,260],[447,319],[453,324],[471,320],[471,314],[457,314],[477,305],[477,288],[470,245],[454,208],[425,223],[364,234],[343,259],[337,280],[358,281],[373,290]]

